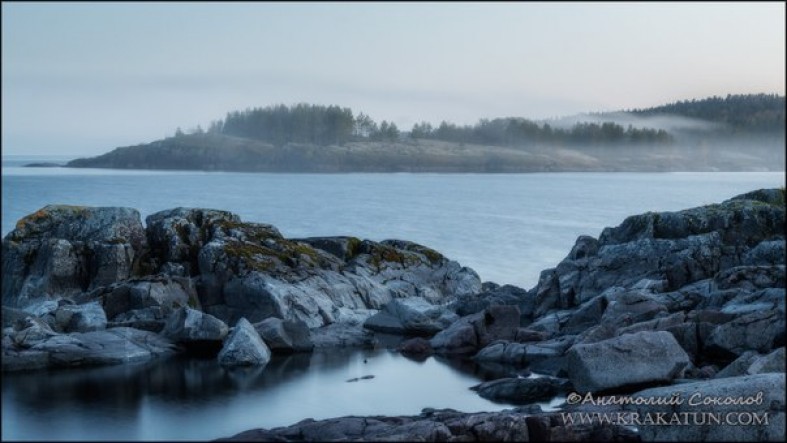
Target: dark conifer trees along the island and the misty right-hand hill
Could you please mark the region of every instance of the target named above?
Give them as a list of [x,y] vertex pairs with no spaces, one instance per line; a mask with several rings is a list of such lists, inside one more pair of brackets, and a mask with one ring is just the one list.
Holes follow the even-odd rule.
[[[679,101],[669,105],[629,112],[639,115],[682,115],[722,122],[737,132],[784,132],[785,99],[775,94],[728,95],[703,100]],[[194,132],[203,133],[201,128]],[[275,105],[227,113],[214,121],[208,133],[265,141],[277,146],[304,143],[318,146],[342,145],[352,141],[400,141],[407,138],[442,140],[506,147],[533,145],[641,145],[674,141],[663,129],[623,127],[614,122],[577,123],[570,128],[552,127],[524,118],[481,119],[474,125],[443,121],[413,125],[409,132],[394,122],[377,123],[350,108],[300,103]],[[176,136],[183,135],[178,128]]]

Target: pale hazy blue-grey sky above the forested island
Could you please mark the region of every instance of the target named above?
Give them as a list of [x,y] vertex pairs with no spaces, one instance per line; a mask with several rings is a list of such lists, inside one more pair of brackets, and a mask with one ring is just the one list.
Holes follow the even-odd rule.
[[784,2],[2,2],[3,155],[275,104],[409,130],[785,93]]

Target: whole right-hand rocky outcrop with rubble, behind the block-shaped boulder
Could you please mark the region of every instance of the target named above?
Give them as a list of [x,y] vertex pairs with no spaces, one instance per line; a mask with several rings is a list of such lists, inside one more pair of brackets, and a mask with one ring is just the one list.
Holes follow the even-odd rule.
[[[598,240],[582,236],[528,291],[533,308],[522,315],[520,335],[540,334],[536,343],[506,338],[476,358],[533,364],[525,355],[550,344],[544,357],[554,360],[538,364],[560,371],[567,347],[558,343],[587,345],[641,331],[671,334],[690,359],[689,376],[702,367],[721,369],[748,350],[770,352],[785,342],[784,228],[784,193],[773,189],[632,216]],[[512,297],[500,302],[529,309]],[[455,338],[466,337],[469,349],[466,325],[446,331],[460,326],[467,333]]]

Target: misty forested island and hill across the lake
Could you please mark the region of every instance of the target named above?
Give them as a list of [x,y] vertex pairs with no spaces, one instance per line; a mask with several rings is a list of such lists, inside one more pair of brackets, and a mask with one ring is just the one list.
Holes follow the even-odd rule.
[[275,105],[229,112],[75,168],[243,172],[784,170],[785,97],[728,95],[533,121],[428,122],[401,130],[350,108]]

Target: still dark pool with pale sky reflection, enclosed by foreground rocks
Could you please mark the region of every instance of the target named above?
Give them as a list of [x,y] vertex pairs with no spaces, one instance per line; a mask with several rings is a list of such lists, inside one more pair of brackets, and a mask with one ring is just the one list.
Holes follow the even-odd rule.
[[[347,382],[374,375],[371,379]],[[174,357],[7,374],[3,440],[204,440],[305,418],[493,411],[469,388],[500,376],[468,359],[421,361],[378,349],[275,357],[261,368]]]

